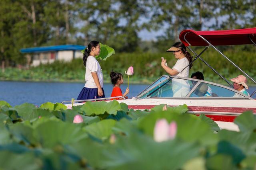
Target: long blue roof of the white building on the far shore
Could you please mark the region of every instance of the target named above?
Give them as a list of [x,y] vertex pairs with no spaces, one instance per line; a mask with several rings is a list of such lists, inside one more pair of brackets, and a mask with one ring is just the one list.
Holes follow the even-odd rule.
[[20,49],[22,53],[40,53],[49,51],[66,51],[66,50],[83,50],[85,46],[82,45],[55,45],[46,47],[32,47],[27,49]]

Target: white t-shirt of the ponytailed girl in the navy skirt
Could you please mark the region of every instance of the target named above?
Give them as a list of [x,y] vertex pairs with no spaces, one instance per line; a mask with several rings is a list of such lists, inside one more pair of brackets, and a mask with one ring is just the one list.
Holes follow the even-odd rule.
[[88,56],[86,61],[86,71],[85,71],[85,85],[86,88],[97,88],[93,77],[92,72],[97,72],[100,86],[103,87],[103,74],[100,67],[100,63],[93,56]]

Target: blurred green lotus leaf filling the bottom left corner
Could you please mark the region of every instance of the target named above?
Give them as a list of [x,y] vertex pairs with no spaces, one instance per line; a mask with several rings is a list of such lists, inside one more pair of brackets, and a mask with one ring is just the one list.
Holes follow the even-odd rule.
[[0,151],[0,169],[2,170],[38,170],[40,162],[32,152],[17,154],[10,151]]

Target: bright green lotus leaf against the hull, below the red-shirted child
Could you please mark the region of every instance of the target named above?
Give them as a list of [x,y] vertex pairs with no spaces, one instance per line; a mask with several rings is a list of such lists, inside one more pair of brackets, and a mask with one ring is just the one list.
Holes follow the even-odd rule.
[[104,113],[116,115],[116,112],[121,110],[121,106],[116,100],[113,100],[111,102],[86,102],[80,109],[86,115],[100,115]]

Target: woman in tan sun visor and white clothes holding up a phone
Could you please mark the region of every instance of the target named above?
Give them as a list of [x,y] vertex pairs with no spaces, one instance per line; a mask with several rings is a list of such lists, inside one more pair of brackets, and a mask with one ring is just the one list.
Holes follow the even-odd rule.
[[[167,52],[173,52],[174,57],[178,59],[176,64],[170,68],[166,64],[166,59],[162,58],[161,66],[172,76],[188,77],[189,69],[192,67],[192,57],[186,50],[183,43],[175,43]],[[185,97],[190,91],[190,85],[187,80],[178,78],[172,79],[173,97]]]

